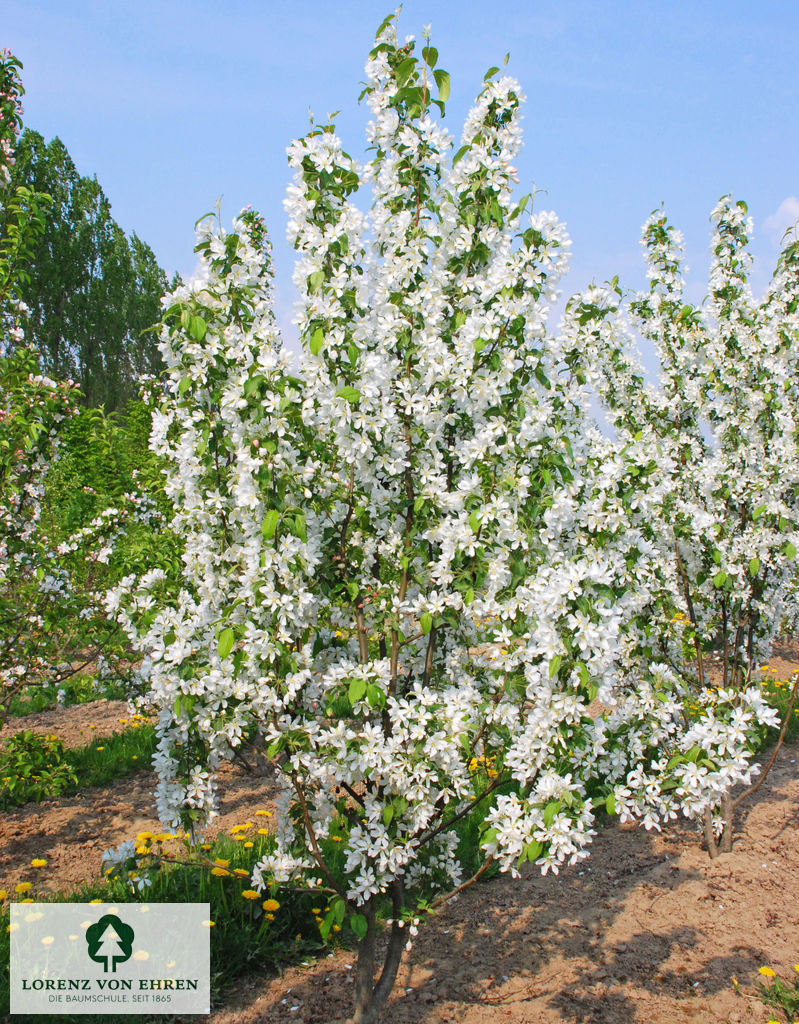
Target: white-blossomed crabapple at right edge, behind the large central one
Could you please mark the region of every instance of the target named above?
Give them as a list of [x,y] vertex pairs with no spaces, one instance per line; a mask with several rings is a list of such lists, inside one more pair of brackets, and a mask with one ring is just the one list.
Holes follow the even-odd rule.
[[[703,307],[684,300],[681,238],[658,210],[642,238],[649,291],[625,300],[614,282],[575,297],[563,344],[637,463],[639,495],[658,481],[642,517],[655,512],[646,528],[662,557],[631,664],[659,652],[680,681],[696,743],[689,788],[695,809],[706,805],[715,856],[731,849],[729,791],[748,779],[753,726],[775,724],[753,673],[799,612],[799,243],[787,241],[756,302],[746,205],[723,198],[712,222]],[[658,387],[633,353],[633,332],[658,352]]]

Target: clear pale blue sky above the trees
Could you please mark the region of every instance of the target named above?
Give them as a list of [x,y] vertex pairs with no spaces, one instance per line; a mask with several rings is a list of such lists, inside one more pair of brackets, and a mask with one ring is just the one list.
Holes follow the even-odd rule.
[[[364,152],[356,99],[389,3],[342,0],[0,0],[0,45],[24,62],[25,122],[59,135],[96,174],[117,219],[168,270],[195,265],[193,225],[222,197],[252,204],[276,255],[290,319],[286,146],[340,110]],[[755,219],[754,283],[799,218],[796,0],[409,0],[401,35],[432,25],[460,125],[482,74],[510,52],[528,96],[520,190],[566,221],[566,289],[615,273],[639,287],[640,225],[664,203],[682,229],[693,298],[704,294],[708,217],[732,191]]]

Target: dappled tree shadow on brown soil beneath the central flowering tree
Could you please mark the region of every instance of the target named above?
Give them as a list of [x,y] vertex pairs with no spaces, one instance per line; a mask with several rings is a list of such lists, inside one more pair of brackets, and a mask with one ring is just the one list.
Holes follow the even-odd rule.
[[[693,834],[688,838],[684,831],[680,826],[675,829],[676,853],[686,842],[696,842]],[[669,843],[665,846],[671,849]],[[536,1000],[537,1010],[548,1008],[542,1020],[629,1024],[636,1019],[634,1000],[614,990],[625,981],[682,994],[695,993],[697,980],[706,991],[728,986],[729,973],[750,963],[743,951],[723,964],[706,965],[702,974],[683,977],[664,970],[675,950],[693,947],[692,928],[676,927],[659,935],[641,923],[640,934],[627,942],[608,944],[606,939],[632,890],[643,887],[655,900],[700,878],[699,871],[673,864],[663,840],[656,849],[655,838],[643,830],[608,824],[594,841],[591,857],[559,877],[542,878],[532,871],[517,880],[503,876],[475,886],[439,911],[420,931],[413,951],[405,954],[384,1020],[391,1024],[460,1020],[453,1004],[461,1011],[464,1004],[497,1007],[500,1019],[501,1008],[508,1015],[515,1004],[523,1012],[524,1004]],[[354,953],[349,958],[354,962]],[[591,966],[575,978],[573,968],[563,970],[571,959],[588,961]],[[259,1005],[257,1020],[332,1024],[346,1019],[352,972],[340,961],[330,967],[324,981],[317,972],[293,978],[288,1001],[276,996]],[[234,1007],[227,1009],[235,1012]]]

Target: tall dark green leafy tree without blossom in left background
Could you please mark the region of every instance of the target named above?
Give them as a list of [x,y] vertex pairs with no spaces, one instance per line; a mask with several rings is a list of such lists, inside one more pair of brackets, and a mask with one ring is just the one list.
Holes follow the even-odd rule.
[[38,350],[49,376],[76,380],[86,404],[121,409],[139,375],[160,369],[148,328],[160,317],[166,274],[145,243],[125,234],[96,177],[78,173],[59,138],[46,142],[27,129],[11,176],[52,197],[20,289],[30,310],[22,343]]

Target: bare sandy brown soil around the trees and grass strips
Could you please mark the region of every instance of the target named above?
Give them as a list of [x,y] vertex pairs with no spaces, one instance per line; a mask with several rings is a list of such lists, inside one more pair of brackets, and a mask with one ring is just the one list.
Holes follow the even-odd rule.
[[[775,652],[777,678],[790,675],[798,655],[795,645]],[[109,707],[29,722],[70,745],[85,742],[88,725],[96,725],[94,738],[126,717],[100,703]],[[384,1021],[763,1024],[770,1015],[752,994],[758,968],[786,978],[799,962],[798,762],[799,748],[784,748],[756,797],[742,804],[731,855],[711,861],[685,822],[663,834],[611,824],[591,857],[559,877],[528,870],[468,890],[420,931]],[[159,829],[153,782],[142,772],[3,815],[0,888],[30,879],[35,856],[48,859],[47,888],[96,877],[103,849]],[[215,830],[269,806],[264,780],[237,768],[223,793]],[[210,1024],[339,1024],[351,1004],[353,964],[344,950],[280,978],[247,979]]]

